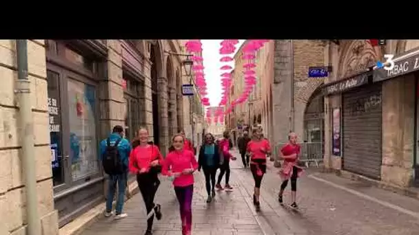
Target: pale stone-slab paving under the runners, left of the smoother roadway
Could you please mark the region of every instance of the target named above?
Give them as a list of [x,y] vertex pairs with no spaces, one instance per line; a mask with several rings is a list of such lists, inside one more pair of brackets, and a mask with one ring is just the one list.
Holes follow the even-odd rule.
[[[234,165],[234,164],[233,164]],[[195,173],[194,199],[192,201],[192,234],[264,234],[258,225],[251,197],[241,188],[241,181],[232,172],[232,192],[217,192],[212,203],[206,203],[207,192],[203,172]],[[162,205],[163,219],[154,219],[153,234],[181,234],[181,219],[172,182],[161,177],[156,202]],[[224,181],[223,181],[224,182]],[[222,183],[223,183],[222,182]],[[125,203],[128,217],[119,221],[101,218],[85,230],[83,235],[143,234],[145,232],[145,208],[141,194]]]

